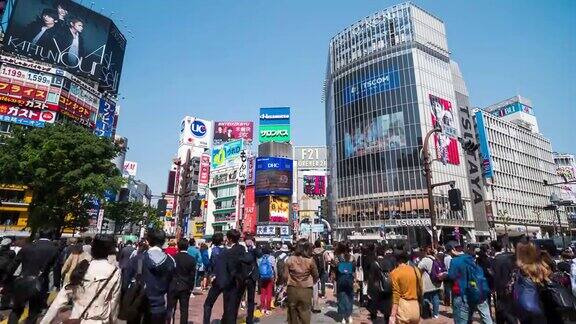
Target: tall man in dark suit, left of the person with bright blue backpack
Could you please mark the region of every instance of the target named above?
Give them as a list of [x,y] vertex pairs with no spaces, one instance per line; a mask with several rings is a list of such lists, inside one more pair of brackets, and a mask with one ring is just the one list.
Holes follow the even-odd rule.
[[240,232],[232,229],[226,233],[228,239],[228,251],[226,252],[226,268],[230,274],[230,284],[224,288],[224,315],[222,323],[233,324],[238,318],[238,307],[244,280],[246,279],[246,267],[242,260],[246,254],[246,249],[238,244],[240,241]]

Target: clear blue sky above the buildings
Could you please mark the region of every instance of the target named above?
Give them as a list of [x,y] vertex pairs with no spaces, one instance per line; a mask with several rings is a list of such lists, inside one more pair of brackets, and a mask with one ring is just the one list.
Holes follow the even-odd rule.
[[[329,39],[399,2],[94,3],[116,21],[123,18],[121,29],[134,35],[120,84],[118,133],[129,138],[127,159],[139,163],[138,178],[159,194],[185,115],[256,121],[259,107],[290,106],[295,144],[325,144],[321,97]],[[576,1],[414,3],[444,21],[474,106],[520,93],[532,100],[554,150],[576,153]]]

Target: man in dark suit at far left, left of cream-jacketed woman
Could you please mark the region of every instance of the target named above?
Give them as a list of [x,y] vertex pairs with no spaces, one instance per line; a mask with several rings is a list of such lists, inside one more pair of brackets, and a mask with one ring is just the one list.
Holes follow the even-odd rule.
[[46,307],[48,298],[48,273],[54,267],[58,258],[58,247],[50,241],[52,232],[41,230],[40,237],[32,244],[26,245],[16,255],[10,273],[22,265],[21,277],[37,276],[40,280],[40,293],[29,298],[18,298],[18,291],[14,291],[14,308],[10,313],[9,324],[17,324],[26,303],[29,303],[29,314],[26,323],[36,323],[36,319],[43,308]]

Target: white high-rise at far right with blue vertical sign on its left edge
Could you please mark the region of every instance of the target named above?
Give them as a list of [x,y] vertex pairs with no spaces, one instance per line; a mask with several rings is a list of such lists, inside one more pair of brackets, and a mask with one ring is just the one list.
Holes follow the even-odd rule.
[[[528,117],[528,118],[525,118]],[[549,139],[538,133],[530,101],[512,97],[475,112],[485,179],[486,209],[494,217],[496,234],[550,237],[557,214],[544,207],[560,193]],[[567,227],[561,213],[562,227]]]

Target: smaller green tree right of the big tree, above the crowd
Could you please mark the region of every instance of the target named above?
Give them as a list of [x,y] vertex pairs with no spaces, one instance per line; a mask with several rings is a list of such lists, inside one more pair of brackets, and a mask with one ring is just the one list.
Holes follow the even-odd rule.
[[[140,201],[116,201],[106,204],[104,208],[104,217],[115,222],[114,233],[122,232],[127,224],[162,227],[162,221],[157,215],[154,207],[144,205]],[[158,222],[160,221],[160,225]]]

